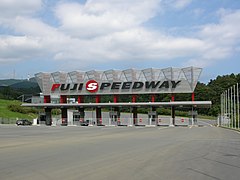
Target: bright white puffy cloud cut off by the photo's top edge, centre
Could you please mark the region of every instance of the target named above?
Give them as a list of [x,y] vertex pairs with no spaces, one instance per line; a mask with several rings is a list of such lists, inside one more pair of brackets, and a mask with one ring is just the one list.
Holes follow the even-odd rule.
[[95,37],[140,26],[154,17],[159,0],[91,0],[60,3],[55,14],[61,30],[76,37]]

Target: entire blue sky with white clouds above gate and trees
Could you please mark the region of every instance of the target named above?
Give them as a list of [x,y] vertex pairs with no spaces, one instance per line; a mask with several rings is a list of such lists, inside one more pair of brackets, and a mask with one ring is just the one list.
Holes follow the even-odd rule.
[[239,0],[0,0],[0,79],[39,72],[240,73]]

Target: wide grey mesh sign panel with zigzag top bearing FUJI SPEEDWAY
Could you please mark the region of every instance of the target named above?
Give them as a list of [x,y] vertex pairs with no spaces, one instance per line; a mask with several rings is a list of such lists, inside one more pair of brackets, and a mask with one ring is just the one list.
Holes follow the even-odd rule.
[[44,95],[191,93],[201,68],[38,73]]

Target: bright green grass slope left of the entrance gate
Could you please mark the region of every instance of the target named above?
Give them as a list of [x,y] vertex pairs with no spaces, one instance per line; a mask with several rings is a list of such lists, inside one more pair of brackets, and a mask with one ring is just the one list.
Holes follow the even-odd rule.
[[22,113],[10,111],[8,109],[8,105],[10,104],[21,104],[21,102],[0,99],[0,118],[29,119],[29,120],[36,118],[36,115],[34,114],[22,114]]

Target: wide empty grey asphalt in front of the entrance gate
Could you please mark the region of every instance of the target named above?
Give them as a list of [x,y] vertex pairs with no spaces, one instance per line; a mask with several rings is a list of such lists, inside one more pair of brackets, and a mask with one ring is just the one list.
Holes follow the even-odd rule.
[[0,179],[238,180],[240,134],[203,127],[0,126]]

